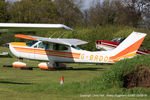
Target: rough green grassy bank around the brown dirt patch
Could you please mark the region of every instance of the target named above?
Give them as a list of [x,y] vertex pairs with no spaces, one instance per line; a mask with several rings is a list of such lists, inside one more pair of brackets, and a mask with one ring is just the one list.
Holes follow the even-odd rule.
[[[143,65],[150,67],[150,56],[137,56],[133,59],[122,60],[112,65],[107,71],[101,75],[93,78],[85,83],[72,83],[64,85],[62,90],[67,89],[69,92],[85,93],[85,94],[146,94],[148,99],[150,97],[150,90],[144,88],[123,88],[122,77],[123,75],[133,72],[136,66]],[[74,90],[72,88],[79,88]]]

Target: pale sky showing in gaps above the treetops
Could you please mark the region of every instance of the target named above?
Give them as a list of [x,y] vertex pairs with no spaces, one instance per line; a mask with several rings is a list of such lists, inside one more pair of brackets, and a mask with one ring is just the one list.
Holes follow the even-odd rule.
[[[6,1],[15,2],[15,1],[20,1],[20,0],[6,0]],[[79,1],[79,0],[77,0],[77,1]],[[93,1],[96,1],[96,0],[81,0],[81,1],[83,2],[81,9],[88,9],[93,5]]]

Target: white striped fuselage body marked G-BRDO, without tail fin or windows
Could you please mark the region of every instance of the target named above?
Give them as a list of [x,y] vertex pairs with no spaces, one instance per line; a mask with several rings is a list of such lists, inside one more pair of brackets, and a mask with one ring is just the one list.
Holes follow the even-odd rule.
[[109,60],[110,54],[106,54],[106,51],[90,52],[75,46],[65,46],[65,50],[57,50],[54,49],[54,44],[51,44],[51,48],[46,49],[38,47],[40,43],[41,41],[38,41],[32,46],[28,46],[24,42],[12,42],[9,48],[18,58],[69,63],[113,63]]

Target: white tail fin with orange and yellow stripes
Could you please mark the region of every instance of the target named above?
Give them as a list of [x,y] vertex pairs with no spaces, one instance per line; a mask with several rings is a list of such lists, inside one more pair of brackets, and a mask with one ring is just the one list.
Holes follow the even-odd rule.
[[146,34],[139,32],[132,32],[120,45],[117,46],[112,52],[113,56],[110,61],[119,61],[124,58],[132,58],[136,51],[139,49]]

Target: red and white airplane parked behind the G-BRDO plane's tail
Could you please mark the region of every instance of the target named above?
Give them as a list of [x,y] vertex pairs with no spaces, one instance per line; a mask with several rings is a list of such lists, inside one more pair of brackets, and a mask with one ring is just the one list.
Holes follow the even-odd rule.
[[[112,50],[116,48],[125,38],[115,38],[111,41],[106,40],[97,40],[95,42],[96,48],[99,50]],[[143,45],[141,45],[137,51],[137,55],[147,55],[150,54],[150,51],[148,51],[146,48],[144,48]]]

